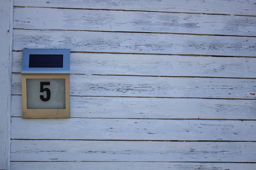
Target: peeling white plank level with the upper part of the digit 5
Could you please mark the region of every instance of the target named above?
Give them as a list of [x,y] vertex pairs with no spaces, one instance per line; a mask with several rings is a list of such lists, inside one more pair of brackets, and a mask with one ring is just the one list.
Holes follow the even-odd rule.
[[[256,98],[256,79],[71,75],[70,94],[79,96],[139,96]],[[13,74],[12,94],[21,94],[21,75]]]

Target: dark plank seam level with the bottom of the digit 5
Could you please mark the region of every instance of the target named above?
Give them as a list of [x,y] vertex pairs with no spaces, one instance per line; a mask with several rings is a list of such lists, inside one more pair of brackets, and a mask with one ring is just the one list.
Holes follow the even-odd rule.
[[[21,94],[12,93],[13,96]],[[217,99],[217,100],[256,100],[255,98],[205,98],[205,97],[158,97],[158,96],[94,96],[94,95],[70,95],[72,97],[113,97],[113,98],[160,98],[160,99]]]

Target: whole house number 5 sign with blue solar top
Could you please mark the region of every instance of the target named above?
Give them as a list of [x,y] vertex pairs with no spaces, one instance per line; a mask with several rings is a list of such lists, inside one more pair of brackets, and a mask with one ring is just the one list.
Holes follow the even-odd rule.
[[70,50],[23,50],[23,118],[70,118],[69,63]]

